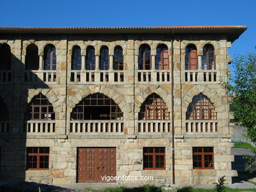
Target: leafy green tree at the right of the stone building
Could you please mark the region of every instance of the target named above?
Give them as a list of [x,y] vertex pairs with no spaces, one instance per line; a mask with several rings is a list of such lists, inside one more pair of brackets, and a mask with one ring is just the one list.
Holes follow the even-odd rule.
[[[255,47],[256,50],[256,47]],[[246,136],[256,144],[256,53],[236,54],[234,58],[234,75],[226,88],[232,94],[230,111],[234,115],[234,123],[247,128]],[[245,170],[256,172],[255,156],[245,155]]]

